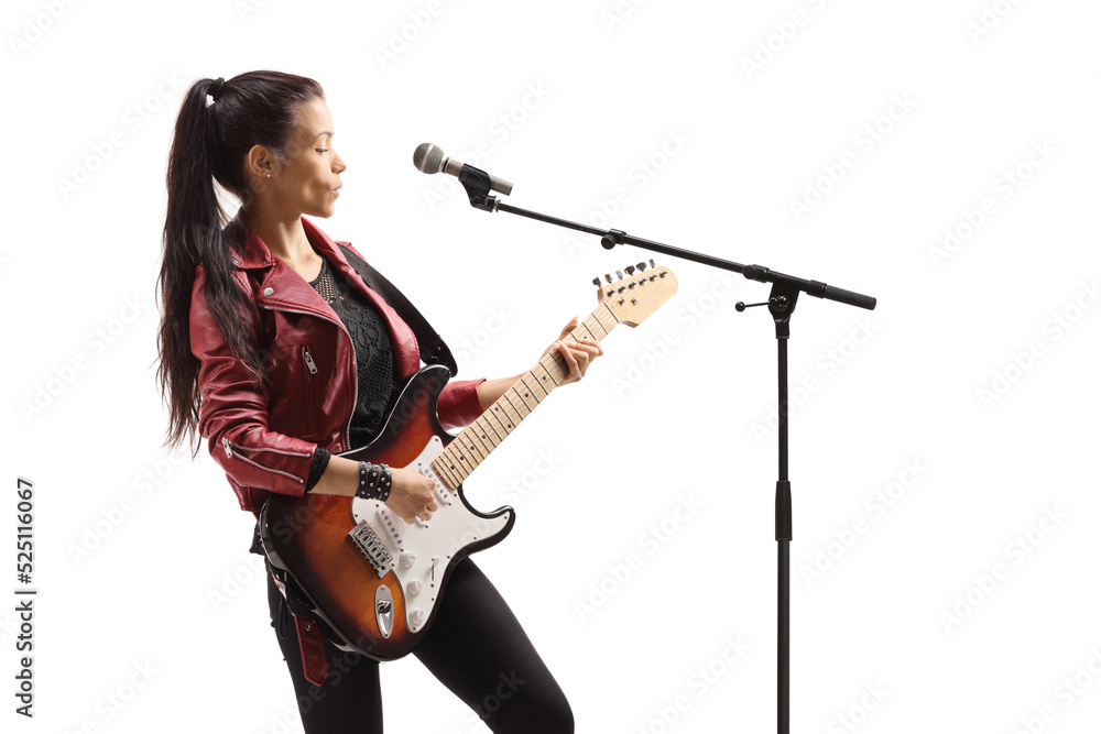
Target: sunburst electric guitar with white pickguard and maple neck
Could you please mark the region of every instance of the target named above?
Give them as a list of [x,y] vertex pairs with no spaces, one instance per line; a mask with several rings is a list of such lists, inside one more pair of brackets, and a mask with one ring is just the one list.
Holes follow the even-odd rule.
[[[628,267],[629,277],[617,282],[593,281],[599,305],[570,333],[575,341],[637,326],[676,293],[673,273],[650,262],[650,270]],[[455,565],[500,543],[515,522],[509,506],[475,510],[462,482],[568,374],[562,354],[549,352],[456,436],[436,415],[447,369],[428,365],[408,379],[374,440],[339,456],[432,479],[439,508],[427,522],[406,524],[377,500],[309,493],[268,500],[260,516],[268,557],[294,579],[339,647],[377,660],[416,647]]]

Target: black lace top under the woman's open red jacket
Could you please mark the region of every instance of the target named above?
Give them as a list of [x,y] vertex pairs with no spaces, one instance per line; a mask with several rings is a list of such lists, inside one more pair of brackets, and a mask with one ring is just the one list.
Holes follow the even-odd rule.
[[[321,272],[309,282],[344,321],[356,349],[356,409],[351,416],[351,448],[364,446],[382,427],[394,394],[394,350],[382,315],[321,258]],[[306,491],[314,489],[329,463],[329,452],[317,447]]]

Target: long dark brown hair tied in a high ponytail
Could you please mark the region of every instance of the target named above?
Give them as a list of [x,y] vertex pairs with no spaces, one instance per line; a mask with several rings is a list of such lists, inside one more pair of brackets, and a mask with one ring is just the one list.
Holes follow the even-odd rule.
[[[211,91],[217,99],[208,103]],[[249,201],[249,151],[263,145],[284,160],[298,108],[315,98],[325,99],[325,94],[313,79],[282,72],[249,72],[225,83],[196,81],[181,105],[166,175],[168,208],[157,280],[157,379],[168,405],[165,443],[175,447],[187,437],[193,441],[193,456],[198,451],[199,362],[190,350],[188,316],[199,264],[207,306],[226,342],[258,374],[262,372],[260,347],[246,326],[255,320],[242,318],[254,319],[257,306],[235,284],[230,266],[231,250],[239,250],[242,243],[225,231],[230,217],[218,201],[215,182],[242,202]]]

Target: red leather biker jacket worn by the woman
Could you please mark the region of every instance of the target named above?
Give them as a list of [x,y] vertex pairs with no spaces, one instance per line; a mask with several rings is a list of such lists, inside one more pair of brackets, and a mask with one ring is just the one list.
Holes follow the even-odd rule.
[[[384,317],[395,377],[416,372],[421,358],[410,327],[367,287],[325,232],[305,217],[302,226],[310,244]],[[243,216],[239,213],[227,232],[244,239],[243,256],[233,258],[233,276],[265,317],[250,326],[268,350],[270,388],[231,353],[207,309],[199,265],[190,307],[192,352],[200,362],[198,428],[241,508],[259,516],[269,492],[302,496],[318,446],[333,452],[355,448],[348,445],[357,390],[355,352],[333,308],[271,254]],[[444,387],[437,412],[445,428],[465,426],[481,415],[475,388],[482,380],[453,381]]]

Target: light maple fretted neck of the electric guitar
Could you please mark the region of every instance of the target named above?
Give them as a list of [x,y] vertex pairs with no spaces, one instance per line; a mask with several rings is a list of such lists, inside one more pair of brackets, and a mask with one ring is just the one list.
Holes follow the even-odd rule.
[[[566,340],[601,341],[619,322],[608,304],[601,303]],[[451,490],[457,489],[568,374],[569,366],[557,350],[543,357],[433,459],[436,476]]]

